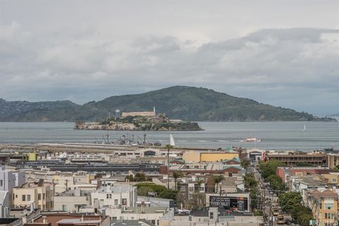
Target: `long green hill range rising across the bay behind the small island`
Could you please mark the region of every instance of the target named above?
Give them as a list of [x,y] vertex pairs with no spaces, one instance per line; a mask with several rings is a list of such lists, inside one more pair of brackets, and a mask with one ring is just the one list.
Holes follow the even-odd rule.
[[0,121],[100,121],[115,109],[122,112],[165,113],[170,119],[188,121],[333,121],[293,109],[273,107],[247,98],[218,93],[206,88],[174,86],[136,95],[108,97],[76,105],[56,102],[8,102],[0,99]]

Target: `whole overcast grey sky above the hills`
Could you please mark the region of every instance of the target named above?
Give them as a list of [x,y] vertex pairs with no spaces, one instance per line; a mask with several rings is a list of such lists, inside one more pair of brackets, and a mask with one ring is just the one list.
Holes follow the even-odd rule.
[[172,85],[339,112],[339,1],[0,1],[0,97]]

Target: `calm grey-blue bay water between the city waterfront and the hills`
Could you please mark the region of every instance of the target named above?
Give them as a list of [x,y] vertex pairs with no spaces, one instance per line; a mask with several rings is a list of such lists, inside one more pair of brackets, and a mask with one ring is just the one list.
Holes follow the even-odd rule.
[[[303,131],[304,124],[306,131]],[[2,122],[0,143],[62,143],[103,141],[107,131],[73,130],[69,122]],[[199,122],[204,131],[172,131],[177,146],[226,148],[242,146],[266,150],[339,149],[338,122]],[[111,141],[122,135],[142,140],[143,131],[109,131]],[[148,141],[169,143],[169,132],[147,131]],[[255,136],[261,142],[245,143]]]

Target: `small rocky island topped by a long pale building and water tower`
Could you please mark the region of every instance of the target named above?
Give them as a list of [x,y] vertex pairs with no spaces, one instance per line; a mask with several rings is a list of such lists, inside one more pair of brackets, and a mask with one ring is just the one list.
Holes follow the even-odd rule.
[[[119,110],[117,110],[119,111]],[[119,113],[119,112],[117,112]],[[165,114],[152,112],[124,112],[124,117],[107,117],[97,123],[76,121],[74,129],[84,130],[115,130],[115,131],[201,131],[198,123],[171,120]]]

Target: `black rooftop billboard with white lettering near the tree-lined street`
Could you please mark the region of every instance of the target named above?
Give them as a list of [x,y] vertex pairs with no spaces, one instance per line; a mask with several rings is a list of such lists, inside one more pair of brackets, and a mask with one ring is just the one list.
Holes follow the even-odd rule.
[[210,196],[210,207],[233,208],[239,211],[245,211],[248,210],[247,203],[247,198],[243,197]]

